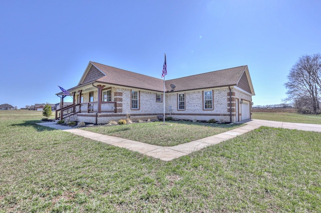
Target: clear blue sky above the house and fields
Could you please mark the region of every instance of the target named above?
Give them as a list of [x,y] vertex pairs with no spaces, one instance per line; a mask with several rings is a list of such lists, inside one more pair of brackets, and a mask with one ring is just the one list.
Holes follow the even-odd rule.
[[248,65],[254,105],[282,103],[321,50],[320,1],[3,1],[0,104],[57,103],[89,61],[174,79]]

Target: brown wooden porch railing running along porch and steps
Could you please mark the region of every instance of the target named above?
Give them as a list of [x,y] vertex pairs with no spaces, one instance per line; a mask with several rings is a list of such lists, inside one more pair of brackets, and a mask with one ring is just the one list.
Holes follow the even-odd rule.
[[[80,103],[71,106],[67,106],[56,110],[56,120],[65,119],[71,115],[80,112],[95,113],[98,112],[98,102]],[[101,102],[101,113],[116,112],[116,102],[104,101]]]

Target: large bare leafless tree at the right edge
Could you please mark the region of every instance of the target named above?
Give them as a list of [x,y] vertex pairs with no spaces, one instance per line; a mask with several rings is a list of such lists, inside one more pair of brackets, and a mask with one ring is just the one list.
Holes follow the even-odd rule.
[[[285,83],[288,97],[294,101],[297,109],[305,112],[320,113],[321,93],[321,55],[302,56],[291,68]],[[302,103],[304,105],[302,106]]]

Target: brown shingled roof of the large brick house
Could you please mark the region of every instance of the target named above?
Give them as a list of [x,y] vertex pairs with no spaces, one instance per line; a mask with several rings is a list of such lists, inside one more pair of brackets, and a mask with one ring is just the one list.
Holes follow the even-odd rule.
[[[252,82],[246,65],[167,80],[165,85],[167,91],[172,90],[171,84],[176,85],[174,91],[177,92],[222,86],[235,86],[239,84],[241,79],[243,79],[241,83],[244,84],[245,80],[248,85],[248,89],[245,90],[254,95]],[[153,78],[96,62],[89,62],[78,86],[69,89],[69,91],[95,82],[163,92],[163,79]]]

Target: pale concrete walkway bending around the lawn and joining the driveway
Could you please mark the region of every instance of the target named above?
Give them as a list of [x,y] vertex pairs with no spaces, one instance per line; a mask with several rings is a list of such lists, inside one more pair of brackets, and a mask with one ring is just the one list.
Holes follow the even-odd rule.
[[118,146],[118,147],[126,148],[132,151],[137,151],[139,153],[142,153],[154,158],[158,158],[161,160],[165,160],[165,161],[170,161],[175,158],[188,155],[194,151],[203,149],[207,146],[211,146],[213,144],[217,144],[222,141],[232,139],[238,135],[242,135],[246,132],[259,128],[260,126],[321,132],[321,125],[319,124],[288,123],[288,122],[267,121],[267,120],[257,120],[257,119],[245,120],[245,121],[242,121],[241,123],[246,123],[247,125],[236,129],[232,129],[224,133],[220,133],[217,135],[213,135],[210,137],[206,137],[203,139],[191,141],[191,142],[176,145],[176,146],[150,145],[150,144],[146,144],[138,141],[132,141],[132,140],[113,137],[109,135],[89,132],[82,129],[71,128],[68,126],[62,126],[62,125],[56,124],[55,122],[38,123],[38,124],[55,128],[55,129],[62,129],[63,131],[66,131],[66,132],[87,137],[87,138],[97,140],[103,143],[107,143],[113,146]]

